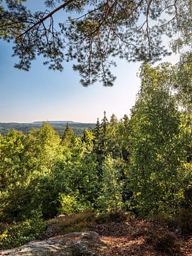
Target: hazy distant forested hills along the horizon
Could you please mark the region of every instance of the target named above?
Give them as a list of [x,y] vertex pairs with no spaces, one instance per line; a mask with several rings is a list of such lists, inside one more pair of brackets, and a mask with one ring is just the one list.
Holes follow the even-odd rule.
[[[65,130],[65,125],[68,123],[73,129],[73,132],[80,136],[84,129],[92,129],[95,124],[90,123],[80,123],[80,122],[73,122],[73,121],[48,121],[50,125],[53,126],[53,128],[60,134],[60,136],[63,135],[63,132]],[[42,126],[41,121],[33,122],[33,123],[1,123],[0,122],[0,132],[1,134],[6,134],[10,129],[16,129],[18,131],[23,132],[24,134],[27,134],[31,129],[39,129]]]

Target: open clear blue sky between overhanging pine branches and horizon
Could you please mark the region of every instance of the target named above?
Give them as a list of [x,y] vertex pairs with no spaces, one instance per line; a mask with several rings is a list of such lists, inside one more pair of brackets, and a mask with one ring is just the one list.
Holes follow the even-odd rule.
[[[29,5],[34,1],[29,0]],[[33,6],[34,7],[34,6]],[[37,7],[37,5],[36,5]],[[72,120],[96,122],[112,113],[120,119],[129,114],[139,90],[139,63],[117,60],[113,87],[99,83],[82,87],[72,65],[64,64],[62,73],[48,70],[42,59],[33,62],[29,72],[14,68],[11,44],[0,41],[0,122]],[[166,58],[176,62],[176,57]]]

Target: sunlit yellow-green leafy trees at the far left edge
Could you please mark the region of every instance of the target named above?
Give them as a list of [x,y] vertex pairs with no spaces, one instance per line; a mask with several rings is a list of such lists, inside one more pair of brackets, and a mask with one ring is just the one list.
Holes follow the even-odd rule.
[[48,185],[42,189],[42,181],[50,176],[59,145],[60,137],[48,124],[27,137],[11,131],[1,140],[1,220],[30,218],[31,210],[41,206]]

